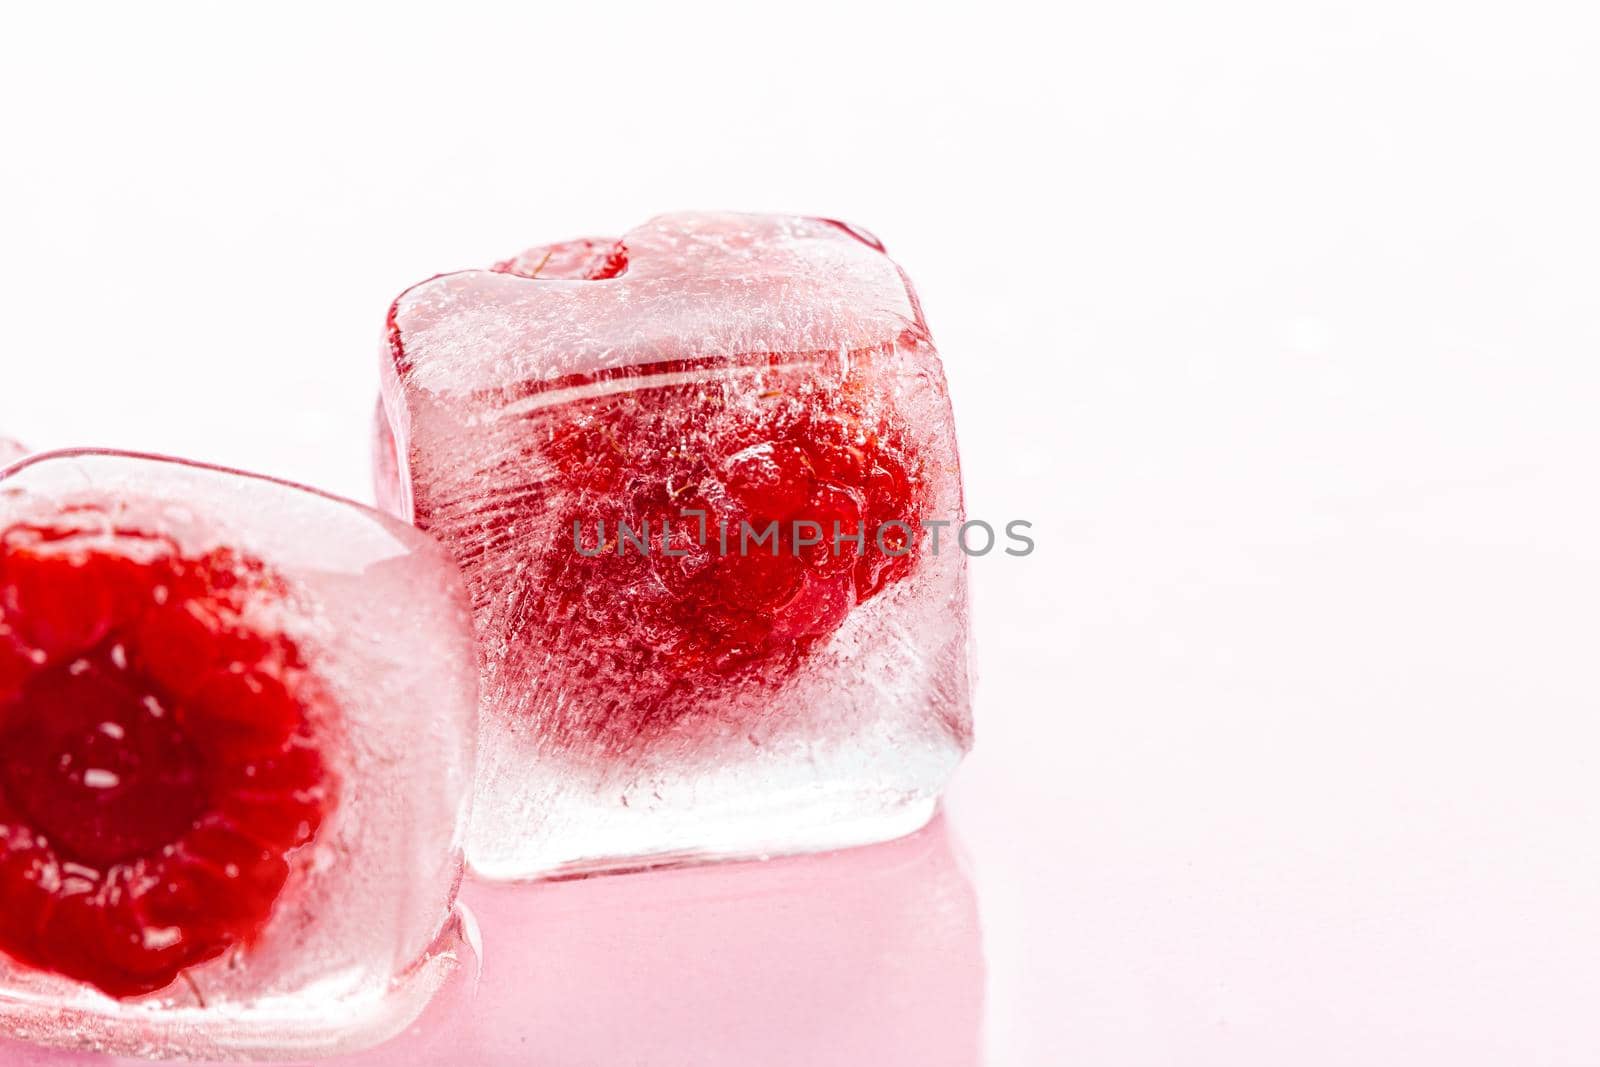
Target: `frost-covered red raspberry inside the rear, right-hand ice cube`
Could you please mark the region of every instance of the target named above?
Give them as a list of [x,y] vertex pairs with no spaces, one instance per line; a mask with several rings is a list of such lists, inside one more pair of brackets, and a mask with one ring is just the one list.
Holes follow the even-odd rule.
[[[754,406],[694,382],[547,416],[536,462],[563,488],[552,498],[566,502],[562,537],[518,616],[542,619],[530,640],[574,665],[563,685],[590,689],[603,709],[597,733],[669,728],[699,707],[694,693],[712,677],[792,672],[856,605],[910,573],[922,474],[859,381],[870,373],[758,368]],[[712,450],[677,446],[688,440]],[[581,555],[574,526],[594,552],[597,520],[606,550]],[[648,526],[648,552],[618,520],[635,534]],[[746,523],[757,536],[776,523],[776,536],[741,544]],[[880,547],[883,523],[904,526]]]

